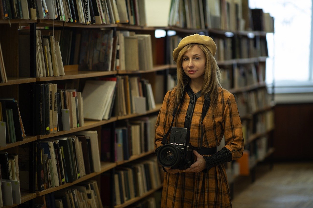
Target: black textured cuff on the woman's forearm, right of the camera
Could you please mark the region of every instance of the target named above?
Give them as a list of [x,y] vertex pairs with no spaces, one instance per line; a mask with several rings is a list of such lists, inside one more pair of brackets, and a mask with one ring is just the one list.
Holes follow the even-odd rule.
[[203,156],[203,158],[206,162],[206,168],[202,172],[207,173],[214,166],[232,161],[232,153],[226,147],[223,147],[217,153],[211,156]]

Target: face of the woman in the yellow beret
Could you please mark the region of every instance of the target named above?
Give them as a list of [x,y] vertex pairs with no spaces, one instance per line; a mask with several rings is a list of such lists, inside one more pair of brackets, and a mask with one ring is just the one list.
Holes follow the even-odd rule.
[[193,46],[183,55],[182,68],[192,81],[203,81],[205,54],[198,46]]

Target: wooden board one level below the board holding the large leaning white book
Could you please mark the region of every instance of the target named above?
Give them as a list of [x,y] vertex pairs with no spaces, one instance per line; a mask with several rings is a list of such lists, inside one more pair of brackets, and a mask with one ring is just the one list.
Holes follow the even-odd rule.
[[116,164],[113,163],[113,162],[101,162],[101,171],[100,172],[90,173],[90,174],[88,174],[86,176],[83,176],[83,177],[77,179],[76,181],[73,181],[72,183],[66,183],[66,184],[61,185],[61,186],[57,186],[57,187],[46,189],[44,191],[36,191],[36,195],[37,196],[43,196],[45,194],[49,194],[51,192],[64,189],[66,187],[73,186],[73,185],[75,185],[77,183],[80,183],[82,181],[88,180],[88,179],[90,179],[92,177],[95,177],[97,175],[100,175],[101,173],[104,173],[105,171],[109,171],[109,170],[111,170],[112,168],[115,168],[115,167],[116,167]]

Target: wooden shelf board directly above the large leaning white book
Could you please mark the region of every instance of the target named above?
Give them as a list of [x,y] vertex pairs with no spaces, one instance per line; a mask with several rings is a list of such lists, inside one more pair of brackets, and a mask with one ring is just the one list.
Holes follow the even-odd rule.
[[69,71],[65,72],[64,76],[58,77],[36,77],[37,82],[65,80],[65,79],[79,79],[87,77],[101,77],[116,74],[116,71]]

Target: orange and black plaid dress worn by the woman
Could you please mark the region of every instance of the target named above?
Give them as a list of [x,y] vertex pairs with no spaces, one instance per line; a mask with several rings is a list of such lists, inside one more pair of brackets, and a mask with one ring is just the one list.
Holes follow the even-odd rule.
[[[168,112],[171,99],[174,99],[176,88],[168,91],[156,121],[155,147],[162,146],[161,141],[172,122],[172,112]],[[197,94],[197,93],[196,93]],[[190,126],[190,143],[198,147],[201,136],[201,113],[203,96],[194,104]],[[174,127],[184,127],[185,116],[190,97],[186,93],[180,110],[174,120]],[[175,107],[175,106],[174,106]],[[203,146],[218,146],[225,133],[225,147],[231,151],[233,159],[242,156],[244,140],[242,126],[233,94],[219,88],[218,106],[213,117],[208,110],[203,120]],[[169,138],[169,136],[168,136]],[[168,139],[167,138],[167,139]],[[208,173],[165,173],[162,207],[231,207],[230,192],[225,167],[223,164],[211,168]]]

